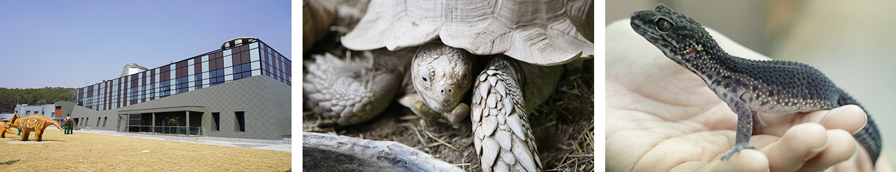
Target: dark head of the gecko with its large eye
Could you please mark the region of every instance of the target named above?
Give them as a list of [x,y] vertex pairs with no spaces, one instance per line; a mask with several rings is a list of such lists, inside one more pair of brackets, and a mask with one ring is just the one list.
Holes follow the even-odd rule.
[[[710,33],[694,19],[665,4],[652,11],[632,13],[632,29],[678,64],[687,64],[695,54],[721,50]],[[683,64],[683,65],[684,65]]]

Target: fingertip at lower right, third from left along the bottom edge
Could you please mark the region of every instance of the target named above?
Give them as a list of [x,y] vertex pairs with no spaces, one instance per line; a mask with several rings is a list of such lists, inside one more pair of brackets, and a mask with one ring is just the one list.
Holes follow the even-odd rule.
[[[857,157],[858,152],[856,140],[852,135],[840,129],[828,130],[827,135],[829,143],[827,148],[818,153],[814,158],[806,161],[806,165],[799,168],[799,171],[822,171],[838,163],[846,161],[852,157]],[[863,171],[858,170],[857,166],[849,166],[849,163],[840,163],[840,168],[849,168],[846,171]],[[853,163],[855,165],[855,163]],[[870,170],[870,169],[869,169]]]

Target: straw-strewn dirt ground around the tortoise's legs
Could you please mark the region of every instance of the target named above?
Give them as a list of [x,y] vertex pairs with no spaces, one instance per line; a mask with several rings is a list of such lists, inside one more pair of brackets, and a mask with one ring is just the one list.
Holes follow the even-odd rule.
[[[532,132],[544,171],[593,171],[594,168],[594,60],[579,72],[564,74],[554,95],[530,114]],[[469,103],[469,102],[468,102]],[[382,114],[359,125],[312,128],[317,118],[305,109],[304,131],[337,133],[376,141],[409,145],[455,164],[466,171],[481,171],[473,149],[468,117],[461,126],[418,118],[407,107],[392,102]]]

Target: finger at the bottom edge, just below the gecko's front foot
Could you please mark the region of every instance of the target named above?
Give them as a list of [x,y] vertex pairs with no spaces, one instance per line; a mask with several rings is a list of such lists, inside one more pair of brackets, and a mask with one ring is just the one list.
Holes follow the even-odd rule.
[[717,157],[711,162],[690,161],[669,171],[769,171],[769,161],[758,150],[740,150],[731,159]]

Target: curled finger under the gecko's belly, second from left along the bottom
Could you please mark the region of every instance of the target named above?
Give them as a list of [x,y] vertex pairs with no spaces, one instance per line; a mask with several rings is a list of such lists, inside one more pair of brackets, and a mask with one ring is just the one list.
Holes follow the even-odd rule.
[[780,140],[771,142],[760,151],[768,156],[771,171],[794,171],[824,150],[828,141],[822,125],[806,123],[794,125]]

